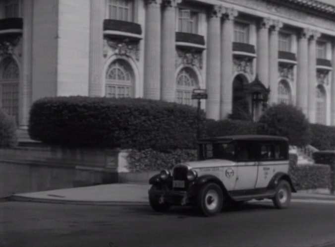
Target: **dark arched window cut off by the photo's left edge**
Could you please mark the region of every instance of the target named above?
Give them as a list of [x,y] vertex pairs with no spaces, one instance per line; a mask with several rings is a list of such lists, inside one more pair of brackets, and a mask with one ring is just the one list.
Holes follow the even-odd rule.
[[12,58],[0,63],[0,106],[18,122],[19,68]]

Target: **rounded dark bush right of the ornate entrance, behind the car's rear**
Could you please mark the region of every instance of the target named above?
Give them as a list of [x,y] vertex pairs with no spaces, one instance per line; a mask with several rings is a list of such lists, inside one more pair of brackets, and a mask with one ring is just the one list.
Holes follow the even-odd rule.
[[290,145],[305,146],[310,143],[311,130],[301,110],[280,103],[268,108],[259,123],[265,124],[265,133],[287,137]]

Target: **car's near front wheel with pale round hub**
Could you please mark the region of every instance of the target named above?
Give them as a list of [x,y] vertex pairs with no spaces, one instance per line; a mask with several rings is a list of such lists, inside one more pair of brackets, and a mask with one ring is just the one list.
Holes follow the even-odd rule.
[[208,217],[218,214],[223,205],[221,187],[215,183],[203,185],[198,194],[197,204],[201,211]]

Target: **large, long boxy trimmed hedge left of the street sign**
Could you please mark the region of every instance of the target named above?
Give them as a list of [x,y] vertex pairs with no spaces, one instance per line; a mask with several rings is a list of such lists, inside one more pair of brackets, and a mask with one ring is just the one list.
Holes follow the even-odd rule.
[[[204,121],[201,111],[201,129]],[[32,139],[65,146],[192,149],[196,132],[196,108],[146,99],[44,98],[29,119]]]

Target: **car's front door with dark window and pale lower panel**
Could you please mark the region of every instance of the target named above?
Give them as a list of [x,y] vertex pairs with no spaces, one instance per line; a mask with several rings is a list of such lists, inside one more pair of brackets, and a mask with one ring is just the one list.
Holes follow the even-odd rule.
[[234,190],[254,189],[257,181],[257,143],[237,142],[237,177]]

